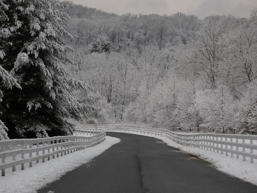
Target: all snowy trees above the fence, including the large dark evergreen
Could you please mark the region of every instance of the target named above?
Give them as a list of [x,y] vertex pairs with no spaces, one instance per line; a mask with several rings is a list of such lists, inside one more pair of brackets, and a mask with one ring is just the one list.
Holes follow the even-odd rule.
[[0,15],[0,140],[80,120],[257,133],[256,8],[200,20],[0,0]]

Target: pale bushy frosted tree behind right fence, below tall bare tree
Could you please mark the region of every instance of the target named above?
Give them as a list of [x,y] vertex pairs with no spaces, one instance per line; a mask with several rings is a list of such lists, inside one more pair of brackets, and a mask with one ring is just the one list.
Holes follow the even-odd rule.
[[196,93],[196,109],[203,118],[200,128],[227,133],[235,126],[236,103],[226,86],[216,86],[215,89],[198,90]]

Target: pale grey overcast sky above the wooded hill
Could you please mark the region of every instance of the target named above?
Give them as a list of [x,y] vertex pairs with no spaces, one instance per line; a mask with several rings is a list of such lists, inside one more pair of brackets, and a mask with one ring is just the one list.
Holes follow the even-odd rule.
[[[71,1],[71,0],[69,0]],[[73,0],[75,4],[101,9],[105,12],[171,15],[177,12],[204,18],[212,13],[249,17],[257,0]]]

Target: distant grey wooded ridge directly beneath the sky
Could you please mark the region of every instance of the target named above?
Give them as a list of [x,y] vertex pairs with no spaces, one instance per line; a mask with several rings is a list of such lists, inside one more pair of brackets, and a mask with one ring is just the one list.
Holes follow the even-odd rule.
[[166,45],[186,43],[192,32],[199,30],[196,15],[178,12],[173,15],[117,15],[96,8],[68,2],[66,13],[70,15],[69,29],[74,36],[72,44],[90,44],[97,36],[108,37],[114,44],[125,49],[127,46]]

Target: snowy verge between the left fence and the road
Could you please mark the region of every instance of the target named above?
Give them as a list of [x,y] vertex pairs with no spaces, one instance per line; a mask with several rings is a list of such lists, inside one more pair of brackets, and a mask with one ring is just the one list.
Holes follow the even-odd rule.
[[25,170],[2,176],[0,177],[0,192],[37,192],[37,190],[48,183],[56,181],[65,175],[66,172],[86,164],[120,141],[118,138],[106,136],[104,142],[94,147],[76,151],[44,163],[36,164],[32,168],[25,168]]

